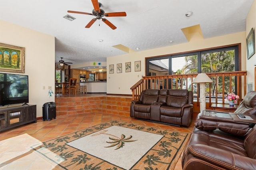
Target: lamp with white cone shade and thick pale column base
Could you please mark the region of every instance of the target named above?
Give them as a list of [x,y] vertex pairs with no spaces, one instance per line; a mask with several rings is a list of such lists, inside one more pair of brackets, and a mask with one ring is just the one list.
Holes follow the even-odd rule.
[[200,86],[200,113],[206,109],[205,102],[205,84],[213,81],[206,75],[206,73],[199,73],[192,83],[199,83]]

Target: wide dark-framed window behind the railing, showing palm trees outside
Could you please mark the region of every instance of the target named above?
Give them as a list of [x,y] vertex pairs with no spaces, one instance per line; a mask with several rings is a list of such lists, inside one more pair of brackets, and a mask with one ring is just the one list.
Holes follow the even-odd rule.
[[[239,56],[238,45],[226,46],[222,48],[207,49],[201,51],[194,51],[189,53],[174,54],[167,56],[158,56],[146,58],[146,75],[150,76],[150,73],[154,72],[156,75],[173,75],[173,74],[191,74],[191,73],[213,73],[213,72],[230,72],[239,71]],[[232,92],[236,93],[236,78],[232,77],[230,82],[228,77],[219,77],[217,82],[212,85],[222,87],[222,81],[224,81],[225,92],[228,92],[228,87],[232,85]],[[182,84],[181,84],[182,82]],[[168,84],[173,85],[174,89],[183,88],[186,81],[173,79]],[[175,87],[174,87],[175,86]],[[195,88],[194,88],[195,86]],[[191,85],[188,85],[189,89]],[[170,89],[170,87],[167,87]],[[193,89],[196,89],[196,85],[193,85]],[[207,87],[206,87],[207,89]],[[222,93],[221,89],[217,89],[219,95]],[[208,92],[213,93],[213,92]]]

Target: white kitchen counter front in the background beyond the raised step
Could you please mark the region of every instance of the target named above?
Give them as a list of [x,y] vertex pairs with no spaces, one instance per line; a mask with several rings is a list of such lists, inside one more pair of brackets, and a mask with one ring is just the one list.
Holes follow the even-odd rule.
[[80,82],[80,85],[87,86],[87,93],[107,93],[106,81],[86,81]]

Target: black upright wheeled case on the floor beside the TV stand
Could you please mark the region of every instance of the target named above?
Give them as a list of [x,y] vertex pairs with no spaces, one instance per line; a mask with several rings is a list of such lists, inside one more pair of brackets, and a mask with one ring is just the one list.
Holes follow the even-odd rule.
[[44,103],[43,105],[43,121],[56,119],[56,105],[54,102]]

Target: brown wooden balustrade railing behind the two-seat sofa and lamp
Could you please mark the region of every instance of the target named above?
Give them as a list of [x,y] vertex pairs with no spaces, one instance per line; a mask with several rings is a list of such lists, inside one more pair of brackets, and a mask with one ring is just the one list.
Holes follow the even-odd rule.
[[[206,74],[213,81],[213,83],[206,83],[206,101],[210,105],[211,103],[223,104],[229,93],[235,93],[240,96],[240,100],[246,94],[247,71]],[[199,84],[192,83],[196,76],[197,73],[142,77],[130,88],[132,90],[132,99],[138,100],[141,92],[145,89],[188,89],[193,91],[194,98],[199,102]]]

